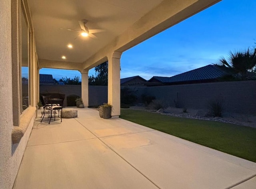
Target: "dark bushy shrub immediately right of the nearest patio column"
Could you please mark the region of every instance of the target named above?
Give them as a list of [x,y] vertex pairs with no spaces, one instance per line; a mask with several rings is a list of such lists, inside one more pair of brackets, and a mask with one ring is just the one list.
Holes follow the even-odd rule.
[[136,100],[136,90],[131,90],[127,87],[121,89],[121,104],[133,105]]

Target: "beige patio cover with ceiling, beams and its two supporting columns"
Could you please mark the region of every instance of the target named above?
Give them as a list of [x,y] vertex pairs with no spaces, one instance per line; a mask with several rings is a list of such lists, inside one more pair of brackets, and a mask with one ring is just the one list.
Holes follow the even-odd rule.
[[[39,68],[79,70],[88,77],[88,70],[108,60],[108,103],[120,105],[120,57],[114,54],[136,46],[144,40],[174,26],[220,0],[155,0],[155,1],[49,1],[28,0],[35,30]],[[61,9],[60,9],[61,5]],[[104,13],[104,14],[103,14]],[[77,36],[78,20],[87,19],[89,29],[104,29],[94,38]],[[46,22],[47,20],[47,22]],[[73,49],[67,48],[68,44]],[[61,56],[65,55],[66,60]],[[111,61],[115,63],[112,64]],[[112,66],[112,68],[110,68]],[[82,78],[82,98],[88,106],[88,80]],[[115,86],[113,88],[113,86]],[[117,88],[116,88],[117,87]],[[110,92],[112,91],[112,92]],[[112,100],[111,100],[112,99]],[[115,106],[115,105],[114,105]],[[120,115],[114,107],[112,116]]]

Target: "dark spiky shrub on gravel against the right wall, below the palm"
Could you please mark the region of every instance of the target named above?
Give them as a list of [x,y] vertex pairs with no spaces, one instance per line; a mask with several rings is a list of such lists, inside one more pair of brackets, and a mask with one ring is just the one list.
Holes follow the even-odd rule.
[[207,103],[207,108],[214,117],[222,117],[224,111],[224,98],[222,96],[215,97]]

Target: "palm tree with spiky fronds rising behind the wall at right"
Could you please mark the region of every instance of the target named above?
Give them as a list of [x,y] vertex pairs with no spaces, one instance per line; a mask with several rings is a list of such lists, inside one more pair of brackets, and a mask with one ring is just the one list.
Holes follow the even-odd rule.
[[248,72],[253,72],[256,69],[256,48],[230,52],[228,61],[223,57],[215,65],[230,68],[236,77],[246,80]]

